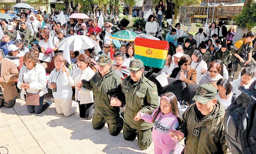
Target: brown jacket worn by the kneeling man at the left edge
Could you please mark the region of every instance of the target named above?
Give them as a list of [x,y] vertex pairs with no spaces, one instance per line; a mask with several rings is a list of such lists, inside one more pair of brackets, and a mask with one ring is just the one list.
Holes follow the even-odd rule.
[[18,79],[18,75],[19,71],[16,65],[11,61],[2,59],[0,77],[3,77],[5,82],[1,82],[1,89],[6,101],[11,101],[17,95],[14,80]]

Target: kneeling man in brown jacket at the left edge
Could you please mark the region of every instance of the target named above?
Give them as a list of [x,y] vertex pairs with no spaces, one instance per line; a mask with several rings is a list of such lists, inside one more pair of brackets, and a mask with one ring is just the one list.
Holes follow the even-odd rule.
[[19,71],[13,62],[3,59],[3,54],[0,50],[0,107],[11,108],[16,102],[14,80],[18,79]]

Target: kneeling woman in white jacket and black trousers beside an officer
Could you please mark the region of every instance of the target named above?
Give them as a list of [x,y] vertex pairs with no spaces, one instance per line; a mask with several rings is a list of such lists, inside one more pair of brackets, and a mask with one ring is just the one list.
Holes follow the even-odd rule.
[[[75,86],[81,80],[89,81],[95,72],[89,67],[91,65],[90,57],[82,53],[77,57],[77,65],[79,70],[76,71],[74,81],[71,82]],[[80,117],[87,120],[91,119],[94,114],[94,99],[93,91],[84,87],[75,86],[75,100],[79,103]]]

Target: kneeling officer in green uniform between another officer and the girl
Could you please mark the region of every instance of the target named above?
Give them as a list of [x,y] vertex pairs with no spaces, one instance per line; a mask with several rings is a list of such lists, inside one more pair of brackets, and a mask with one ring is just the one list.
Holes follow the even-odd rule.
[[158,107],[158,93],[155,83],[145,78],[143,74],[144,65],[140,59],[130,62],[130,76],[125,78],[117,93],[111,98],[112,106],[126,104],[124,114],[124,138],[134,140],[138,137],[138,145],[142,150],[147,149],[151,142],[152,123],[144,120],[135,121],[137,114],[145,113],[151,115]]

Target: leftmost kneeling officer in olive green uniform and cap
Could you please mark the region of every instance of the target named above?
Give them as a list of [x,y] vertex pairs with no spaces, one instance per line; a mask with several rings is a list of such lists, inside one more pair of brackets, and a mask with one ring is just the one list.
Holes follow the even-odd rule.
[[[122,80],[112,69],[109,55],[100,56],[98,65],[99,71],[90,81],[82,80],[83,87],[93,90],[94,94],[93,128],[100,130],[107,122],[110,135],[116,136],[123,129],[124,120],[119,114],[120,107],[110,106],[110,99]],[[81,86],[82,83],[77,83],[77,86]]]

